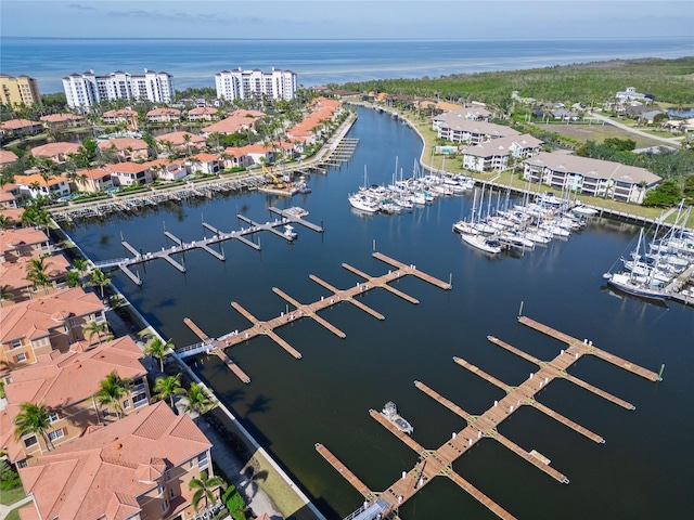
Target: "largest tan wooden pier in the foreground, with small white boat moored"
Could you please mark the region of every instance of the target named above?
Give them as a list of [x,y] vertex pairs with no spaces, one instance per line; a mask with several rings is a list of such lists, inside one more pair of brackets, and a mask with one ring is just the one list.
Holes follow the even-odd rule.
[[[375,256],[375,255],[374,255]],[[402,269],[402,266],[400,266]],[[410,266],[410,269],[414,269]],[[568,484],[569,479],[557,469],[551,466],[551,460],[544,455],[538,453],[536,450],[530,452],[524,450],[511,439],[499,432],[499,425],[516,412],[520,406],[532,406],[536,410],[547,414],[555,420],[564,424],[568,428],[581,433],[588,439],[596,442],[604,443],[604,439],[596,433],[583,428],[576,424],[571,419],[564,417],[563,415],[552,411],[551,408],[538,403],[535,396],[544,388],[548,387],[554,379],[564,378],[581,388],[589,390],[600,396],[608,399],[611,402],[622,406],[627,410],[634,410],[633,405],[616,398],[592,385],[589,385],[577,377],[567,374],[567,369],[576,363],[582,355],[594,355],[607,363],[618,366],[622,369],[630,372],[637,376],[643,377],[650,381],[659,381],[660,378],[655,372],[648,370],[638,366],[629,361],[611,354],[604,350],[601,350],[592,344],[592,341],[587,339],[580,340],[574,338],[567,334],[556,330],[548,325],[539,323],[526,316],[519,316],[518,322],[530,328],[534,328],[542,334],[545,334],[558,341],[565,343],[565,348],[561,349],[560,353],[551,361],[541,361],[522,350],[502,341],[493,336],[489,336],[487,339],[498,347],[523,358],[538,366],[538,370],[529,375],[529,377],[517,387],[506,385],[503,381],[497,379],[490,374],[485,373],[480,368],[467,363],[461,358],[454,358],[453,361],[463,368],[478,375],[486,381],[501,388],[506,395],[498,401],[493,402],[487,411],[481,415],[473,415],[464,411],[461,406],[446,399],[433,388],[428,387],[424,382],[414,381],[414,386],[438,402],[449,411],[462,417],[467,426],[458,432],[453,432],[450,440],[444,443],[437,450],[426,450],[419,444],[412,437],[402,433],[393,424],[385,419],[380,413],[371,410],[370,415],[377,420],[384,428],[389,430],[394,435],[400,439],[406,445],[419,454],[420,459],[410,471],[402,471],[402,476],[395,481],[387,490],[376,493],[372,491],[365,483],[363,483],[357,476],[332,454],[324,445],[317,444],[316,450],[320,453],[345,479],[364,496],[364,505],[360,510],[364,510],[368,505],[375,504],[381,500],[388,504],[387,508],[381,511],[382,518],[396,518],[398,515],[398,508],[404,502],[410,499],[419,490],[426,485],[435,477],[447,477],[455,482],[461,489],[475,497],[480,504],[494,512],[499,518],[504,520],[511,520],[515,517],[505,510],[501,505],[494,503],[480,490],[476,489],[473,484],[463,479],[460,474],[453,471],[452,464],[467,450],[473,447],[477,442],[484,438],[490,438],[497,440],[501,445],[505,446],[536,468],[543,471],[549,477],[553,478],[557,482]],[[357,511],[356,511],[357,512]],[[348,517],[350,518],[350,517]],[[373,518],[373,517],[372,517]]]

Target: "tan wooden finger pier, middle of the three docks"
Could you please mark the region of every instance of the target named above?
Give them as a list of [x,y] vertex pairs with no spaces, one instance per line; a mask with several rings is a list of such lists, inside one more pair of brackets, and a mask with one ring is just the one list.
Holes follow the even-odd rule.
[[[298,219],[298,218],[295,217],[295,219]],[[394,289],[393,287],[387,285],[389,282],[393,282],[394,280],[398,280],[407,275],[415,275],[416,277],[424,280],[429,284],[433,284],[436,287],[439,287],[442,289],[451,288],[450,284],[447,284],[446,282],[442,282],[429,274],[417,271],[414,265],[406,265],[381,252],[374,252],[373,257],[385,263],[397,266],[398,270],[397,271],[390,270],[388,271],[388,273],[383,274],[381,276],[370,276],[369,274],[365,274],[357,270],[356,268],[352,268],[346,263],[343,263],[343,266],[345,269],[351,272],[356,272],[364,278],[364,282],[357,283],[355,286],[348,289],[337,289],[332,285],[330,285],[327,282],[323,282],[318,276],[314,276],[311,274],[309,275],[310,280],[320,284],[322,287],[331,291],[330,295],[322,296],[320,300],[317,300],[312,303],[300,303],[299,301],[297,301],[296,299],[292,298],[290,295],[284,292],[282,289],[279,289],[278,287],[273,287],[272,291],[275,295],[278,295],[280,298],[282,298],[284,301],[286,301],[288,306],[292,306],[293,309],[287,312],[281,312],[279,316],[275,316],[268,321],[261,321],[257,318],[255,315],[253,315],[253,313],[250,313],[248,310],[243,308],[240,303],[232,301],[231,302],[232,309],[234,309],[236,312],[243,315],[248,322],[250,322],[252,325],[248,328],[243,330],[232,330],[228,334],[224,334],[223,336],[220,336],[219,338],[210,338],[206,333],[202,330],[201,327],[198,327],[192,320],[188,317],[183,320],[183,323],[188,325],[188,327],[203,341],[203,343],[210,346],[208,353],[214,353],[218,355],[220,359],[222,359],[222,361],[224,361],[224,363],[227,363],[227,365],[242,381],[249,382],[250,378],[243,370],[241,370],[241,368],[239,368],[239,365],[231,362],[231,360],[228,358],[227,359],[229,360],[229,362],[226,361],[224,358],[222,358],[222,355],[226,356],[223,352],[227,348],[234,347],[242,342],[246,342],[255,338],[256,336],[265,335],[270,339],[272,339],[275,343],[278,343],[282,349],[284,349],[284,351],[286,351],[294,359],[300,360],[301,353],[298,350],[296,350],[294,347],[292,347],[290,343],[287,343],[280,336],[278,336],[278,334],[274,332],[275,328],[279,328],[290,323],[294,323],[298,320],[308,317],[313,320],[319,325],[322,325],[323,327],[325,327],[327,330],[333,333],[338,338],[345,338],[347,335],[343,330],[340,330],[339,328],[337,328],[336,326],[334,326],[333,324],[331,324],[330,322],[327,322],[326,320],[318,315],[318,312],[324,309],[327,309],[330,307],[337,306],[343,301],[347,301],[349,303],[352,303],[357,308],[365,311],[367,313],[371,314],[372,316],[376,317],[377,320],[384,320],[385,316],[383,314],[371,309],[364,303],[356,300],[355,297],[358,295],[365,294],[369,290],[372,290],[374,288],[381,287],[389,290],[390,292],[395,294],[400,298],[403,298],[404,300],[411,303],[419,303],[419,300],[416,300],[415,298],[412,298],[411,296],[406,295],[404,292]],[[288,306],[287,306],[287,309],[288,309]],[[180,358],[190,358],[193,355],[200,355],[201,353],[206,352],[206,350],[205,349],[201,350],[196,346],[188,346],[188,347],[177,348],[176,352],[177,354],[179,354]]]

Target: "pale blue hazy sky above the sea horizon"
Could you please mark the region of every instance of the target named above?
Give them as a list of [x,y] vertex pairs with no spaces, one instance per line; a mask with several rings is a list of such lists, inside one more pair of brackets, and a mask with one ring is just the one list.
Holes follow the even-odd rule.
[[2,0],[34,37],[595,38],[692,36],[692,0]]

